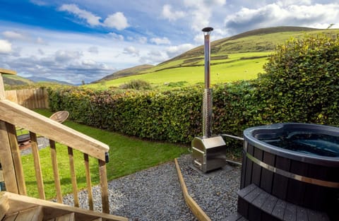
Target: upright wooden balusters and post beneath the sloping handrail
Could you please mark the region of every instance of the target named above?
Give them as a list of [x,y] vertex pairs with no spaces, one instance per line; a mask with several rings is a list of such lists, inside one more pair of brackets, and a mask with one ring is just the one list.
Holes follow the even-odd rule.
[[[2,125],[2,126],[1,126]],[[2,131],[1,131],[2,129]],[[6,134],[7,131],[7,134]],[[8,191],[12,193],[18,193],[20,195],[26,195],[26,186],[25,186],[25,176],[23,164],[21,162],[20,150],[18,148],[18,140],[16,136],[16,127],[13,124],[9,124],[8,122],[4,122],[0,120],[0,132],[4,132],[4,134],[0,133],[0,142],[1,138],[4,143],[7,142],[2,148],[0,147],[0,158],[1,162],[5,162],[3,165],[4,169],[4,180],[6,187],[8,186]],[[8,140],[4,140],[4,138],[8,138]],[[37,150],[37,137],[35,133],[30,132],[31,138],[31,148],[32,155],[35,165],[35,177],[37,179],[37,188],[40,199],[45,199],[44,196],[44,184],[42,180],[42,167],[40,165],[40,156]],[[52,160],[52,169],[53,169],[53,179],[55,184],[55,190],[57,193],[57,202],[63,203],[62,201],[62,193],[61,193],[61,183],[59,177],[59,167],[57,162],[57,148],[55,145],[55,141],[49,140],[49,146],[51,150],[51,160]],[[8,148],[6,148],[8,147]],[[70,165],[70,175],[73,187],[73,203],[74,206],[79,206],[78,201],[78,188],[76,184],[76,170],[73,162],[73,148],[67,147],[69,153],[69,165]],[[86,153],[84,155],[85,162],[85,177],[88,189],[88,203],[90,210],[93,210],[93,193],[92,193],[92,184],[90,180],[90,164],[89,164],[89,156]],[[4,157],[6,156],[6,157]],[[9,159],[8,159],[9,158]],[[101,186],[101,197],[102,197],[102,212],[109,213],[109,198],[108,198],[108,186],[107,186],[107,171],[106,171],[106,162],[104,160],[98,160],[99,164],[99,177],[100,177],[100,186]],[[8,165],[7,165],[8,163]]]

